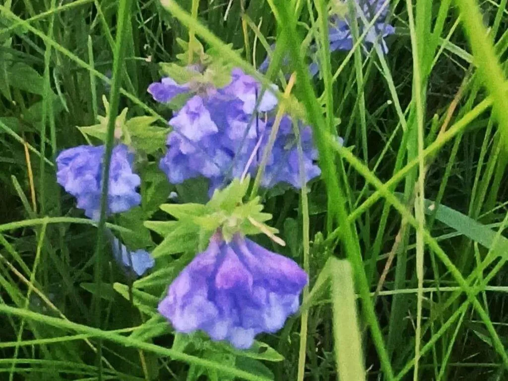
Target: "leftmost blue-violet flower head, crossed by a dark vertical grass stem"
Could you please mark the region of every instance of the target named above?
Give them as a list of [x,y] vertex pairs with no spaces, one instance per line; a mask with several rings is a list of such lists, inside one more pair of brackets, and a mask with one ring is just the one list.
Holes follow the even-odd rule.
[[[85,215],[98,220],[101,210],[104,145],[80,145],[60,152],[56,158],[56,179],[68,193],[77,199],[77,207]],[[134,155],[124,144],[113,148],[109,168],[107,214],[120,213],[141,203],[136,188],[140,177],[133,172]]]

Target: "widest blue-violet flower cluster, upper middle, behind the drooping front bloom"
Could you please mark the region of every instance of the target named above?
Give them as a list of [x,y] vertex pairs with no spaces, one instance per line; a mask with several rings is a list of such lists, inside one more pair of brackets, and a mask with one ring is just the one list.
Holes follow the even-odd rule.
[[[156,101],[168,102],[185,92],[190,96],[169,121],[173,131],[168,135],[167,154],[160,162],[169,181],[179,184],[203,176],[210,179],[212,193],[243,173],[253,175],[274,124],[270,111],[277,105],[273,94],[276,90],[277,86],[272,85],[259,99],[261,84],[238,68],[232,70],[230,83],[219,89],[190,82],[177,84],[169,77],[152,83],[148,91]],[[301,130],[308,181],[319,175],[320,169],[314,164],[316,152],[310,128],[301,123],[297,126]],[[270,152],[263,186],[284,182],[300,187],[297,140],[293,131],[291,119],[284,116]],[[281,165],[288,160],[291,165]]]

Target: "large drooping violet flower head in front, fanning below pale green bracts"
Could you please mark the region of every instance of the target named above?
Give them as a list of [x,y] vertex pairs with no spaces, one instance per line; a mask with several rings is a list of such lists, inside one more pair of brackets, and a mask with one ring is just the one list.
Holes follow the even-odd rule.
[[248,348],[298,310],[307,274],[291,259],[236,235],[220,234],[178,275],[158,311],[177,332],[202,330],[212,340]]

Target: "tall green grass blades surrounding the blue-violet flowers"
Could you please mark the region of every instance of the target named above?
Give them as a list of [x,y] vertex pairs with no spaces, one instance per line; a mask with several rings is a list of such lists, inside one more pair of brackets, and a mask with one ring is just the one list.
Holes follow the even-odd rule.
[[[389,51],[363,48],[359,14],[351,51],[318,44],[316,79],[302,47],[328,40],[326,0],[4,2],[0,378],[505,379],[506,4],[392,0]],[[146,200],[154,208],[140,222],[83,218],[56,184],[56,155],[86,143],[76,126],[104,114],[103,95],[107,157],[124,107],[166,125],[146,88],[182,53],[177,39],[279,84],[280,109],[305,116],[319,150],[322,176],[308,192],[266,192],[261,174],[253,186],[287,247],[262,244],[310,282],[299,313],[243,352],[175,335],[156,314],[192,256],[157,258],[135,280],[105,245],[105,227],[149,235],[142,222],[165,218],[156,210],[170,190],[192,198],[192,187],[157,183],[149,163],[160,153],[138,163],[144,194],[167,192]],[[252,63],[275,41],[262,75]]]

